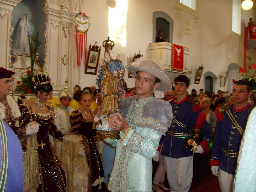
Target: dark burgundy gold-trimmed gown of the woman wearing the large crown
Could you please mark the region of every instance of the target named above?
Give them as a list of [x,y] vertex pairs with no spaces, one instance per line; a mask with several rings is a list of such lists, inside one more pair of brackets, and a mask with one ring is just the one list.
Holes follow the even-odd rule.
[[39,144],[37,152],[41,179],[41,184],[39,184],[37,191],[65,191],[65,173],[56,149],[51,144],[48,136],[49,133],[54,138],[62,140],[64,134],[53,123],[54,108],[51,106],[51,103],[46,104],[49,108],[49,113],[47,114],[40,114],[33,111],[29,102],[20,107],[22,116],[20,119],[20,128],[17,130],[17,136],[19,139],[26,137],[26,125],[31,121],[36,121],[41,125],[39,132],[36,133]]

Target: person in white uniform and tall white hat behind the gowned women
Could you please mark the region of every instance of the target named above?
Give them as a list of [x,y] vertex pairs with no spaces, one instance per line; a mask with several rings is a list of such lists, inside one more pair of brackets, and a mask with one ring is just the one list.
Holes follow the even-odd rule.
[[[71,102],[71,94],[69,89],[60,90],[59,99],[61,106],[58,107],[55,111],[54,124],[63,134],[70,134],[70,115],[75,110],[70,107],[69,104]],[[53,139],[54,146],[57,148],[58,153],[60,153],[61,143],[62,141]]]

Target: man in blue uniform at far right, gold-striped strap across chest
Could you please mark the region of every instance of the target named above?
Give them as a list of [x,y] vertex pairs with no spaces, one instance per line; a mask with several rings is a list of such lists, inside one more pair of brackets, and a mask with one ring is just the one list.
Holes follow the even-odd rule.
[[232,191],[240,141],[252,110],[247,103],[251,94],[247,81],[236,81],[232,93],[234,104],[219,109],[210,165],[222,192]]

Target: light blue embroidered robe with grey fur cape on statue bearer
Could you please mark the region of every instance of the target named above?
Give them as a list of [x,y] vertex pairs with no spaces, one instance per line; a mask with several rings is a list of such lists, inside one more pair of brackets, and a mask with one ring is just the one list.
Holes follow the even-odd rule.
[[106,139],[116,147],[108,189],[152,191],[152,157],[162,135],[173,119],[171,105],[150,95],[136,102],[136,96],[123,99],[121,115],[132,127],[121,139]]

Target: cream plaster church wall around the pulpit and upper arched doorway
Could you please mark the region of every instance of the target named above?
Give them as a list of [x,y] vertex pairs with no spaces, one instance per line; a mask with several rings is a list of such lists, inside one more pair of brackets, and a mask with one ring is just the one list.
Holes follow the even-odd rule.
[[[109,32],[108,14],[109,10],[111,11],[112,9],[108,7],[107,2],[111,1],[89,0],[83,1],[82,3],[80,2],[80,11],[90,17],[91,26],[87,34],[87,50],[90,44],[94,45],[95,41],[97,41],[97,45],[101,46],[101,61],[104,58],[102,42],[107,39],[108,35],[111,40],[115,39]],[[193,66],[194,68],[198,68],[203,65],[203,74],[207,71],[211,71],[215,76],[218,76],[221,71],[227,71],[227,64],[229,63],[228,58],[236,58],[237,64],[243,66],[243,30],[249,18],[256,17],[255,4],[249,11],[242,10],[241,35],[237,38],[231,35],[232,17],[230,15],[232,15],[232,0],[197,0],[199,9],[197,15],[198,20],[196,20],[193,15],[181,11],[181,22],[177,19],[177,10],[175,9],[177,1],[124,0],[124,2],[127,3],[127,20],[122,30],[126,30],[124,37],[126,45],[123,46],[120,42],[115,41],[113,49],[115,53],[122,53],[120,56],[123,58],[124,66],[128,65],[134,54],[138,54],[139,51],[141,51],[141,55],[149,56],[148,46],[149,43],[152,43],[153,30],[152,15],[155,11],[163,11],[173,20],[173,43],[187,47],[190,50],[187,57],[188,67]],[[197,28],[195,26],[192,27],[196,24],[195,22],[198,22]],[[187,27],[191,29],[190,35],[184,34],[182,25],[183,28]],[[70,27],[72,30],[71,25]],[[73,33],[71,34],[73,35]],[[58,46],[58,43],[55,45],[56,42],[54,42],[54,39],[49,43],[52,43],[52,50],[54,50],[54,47]],[[63,46],[69,46],[69,49],[74,50],[75,42]],[[256,51],[254,49],[248,49],[247,55],[255,57]],[[75,57],[74,54],[74,58],[70,60],[73,66],[73,74],[71,75],[71,79],[68,79],[72,81],[72,84],[69,84],[69,88],[72,89],[75,84],[79,84],[81,88],[96,85],[95,80],[97,75],[84,74],[84,63],[78,68]],[[51,62],[51,59],[49,62]],[[51,62],[50,65],[57,65],[57,63]],[[53,68],[57,68],[57,66]],[[188,74],[187,76],[194,79],[192,78],[194,73]],[[200,88],[204,88],[205,85],[202,78],[199,85],[195,85],[191,82],[188,92],[191,92],[191,89],[199,90]],[[127,69],[125,70],[124,79],[128,87],[134,87],[135,79],[128,78]],[[230,82],[227,82],[226,85],[227,84],[230,84]],[[226,87],[219,86],[217,79],[215,91],[219,89],[224,90]]]

